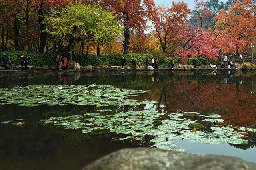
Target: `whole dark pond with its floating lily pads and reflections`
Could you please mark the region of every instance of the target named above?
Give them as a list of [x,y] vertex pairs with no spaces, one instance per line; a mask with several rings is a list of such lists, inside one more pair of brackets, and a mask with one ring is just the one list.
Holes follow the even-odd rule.
[[79,170],[131,147],[256,162],[254,71],[17,73],[0,87],[3,170]]

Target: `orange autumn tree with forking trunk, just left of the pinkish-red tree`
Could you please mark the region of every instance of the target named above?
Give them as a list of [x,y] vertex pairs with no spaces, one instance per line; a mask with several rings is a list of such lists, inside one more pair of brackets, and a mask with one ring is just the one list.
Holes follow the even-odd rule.
[[178,35],[184,31],[188,14],[190,14],[190,10],[188,4],[184,2],[172,2],[171,8],[161,6],[154,8],[154,12],[150,15],[156,30],[153,33],[156,33],[164,53],[167,49],[170,49],[170,52],[176,51]]

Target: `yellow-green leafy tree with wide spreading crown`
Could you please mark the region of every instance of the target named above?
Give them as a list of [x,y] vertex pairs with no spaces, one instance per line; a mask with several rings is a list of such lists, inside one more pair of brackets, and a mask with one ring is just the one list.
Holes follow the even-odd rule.
[[116,20],[112,12],[103,10],[101,6],[83,5],[81,3],[66,6],[60,12],[52,11],[44,20],[46,32],[56,38],[68,37],[66,51],[70,52],[72,61],[72,45],[83,40],[97,41],[106,44],[122,33],[121,22]]

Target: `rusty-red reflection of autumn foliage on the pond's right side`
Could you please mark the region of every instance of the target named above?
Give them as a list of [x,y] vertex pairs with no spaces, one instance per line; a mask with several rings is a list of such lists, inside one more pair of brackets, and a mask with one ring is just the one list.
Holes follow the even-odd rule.
[[256,99],[251,97],[249,83],[238,87],[236,83],[189,83],[184,80],[178,84],[168,83],[165,89],[155,89],[154,93],[150,93],[146,98],[156,101],[162,99],[160,102],[167,104],[168,113],[180,109],[203,114],[217,113],[222,115],[222,119],[228,124],[252,125],[256,122]]

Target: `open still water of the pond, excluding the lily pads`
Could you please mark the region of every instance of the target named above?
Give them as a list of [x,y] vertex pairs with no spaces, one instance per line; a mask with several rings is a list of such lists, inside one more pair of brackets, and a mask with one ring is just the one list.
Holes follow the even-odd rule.
[[[158,101],[140,106],[112,106],[116,113],[153,109],[161,113],[196,111],[218,113],[226,124],[256,128],[256,72],[140,72],[140,73],[48,73],[0,75],[0,87],[26,85],[112,85],[152,90],[140,100]],[[140,142],[113,140],[111,135],[82,134],[77,130],[46,127],[41,119],[77,115],[81,110],[93,113],[96,106],[0,105],[0,121],[24,119],[18,127],[0,124],[0,169],[2,170],[79,170],[86,164],[121,148],[149,147]],[[256,136],[248,144],[210,145],[190,139],[176,140],[186,152],[224,154],[256,162]]]

